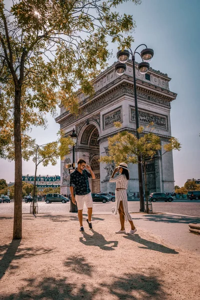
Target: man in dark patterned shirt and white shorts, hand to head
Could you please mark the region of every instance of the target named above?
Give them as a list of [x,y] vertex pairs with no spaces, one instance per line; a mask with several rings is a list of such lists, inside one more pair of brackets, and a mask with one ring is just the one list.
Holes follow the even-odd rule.
[[[86,169],[89,171],[86,171]],[[71,192],[71,201],[77,204],[78,208],[78,219],[80,223],[80,231],[84,232],[83,224],[82,224],[82,209],[84,203],[87,207],[87,215],[86,219],[89,228],[92,228],[91,225],[91,214],[92,214],[92,197],[91,191],[89,188],[88,177],[95,179],[95,175],[91,170],[91,167],[86,164],[86,161],[82,158],[79,158],[77,161],[77,168],[70,174],[70,192]],[[75,190],[75,197],[74,197]]]

